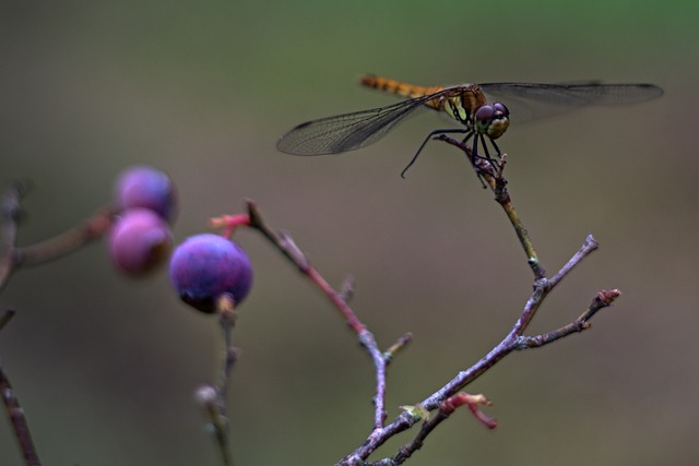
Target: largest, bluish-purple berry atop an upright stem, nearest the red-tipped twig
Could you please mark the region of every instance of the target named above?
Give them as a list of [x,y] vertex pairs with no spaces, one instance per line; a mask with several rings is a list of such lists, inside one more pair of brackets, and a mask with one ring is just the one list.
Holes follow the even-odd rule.
[[170,282],[182,301],[206,313],[229,294],[239,304],[252,285],[252,264],[235,242],[218,235],[188,238],[170,259]]

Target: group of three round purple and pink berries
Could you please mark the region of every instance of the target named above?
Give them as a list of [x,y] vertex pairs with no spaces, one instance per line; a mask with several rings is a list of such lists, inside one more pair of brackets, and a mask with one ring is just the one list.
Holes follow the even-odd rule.
[[[155,270],[173,250],[170,225],[177,194],[169,177],[151,167],[125,170],[116,184],[119,216],[108,238],[111,261],[130,276]],[[173,252],[170,282],[182,301],[213,313],[220,298],[240,303],[252,285],[252,265],[235,242],[217,235],[197,235]]]

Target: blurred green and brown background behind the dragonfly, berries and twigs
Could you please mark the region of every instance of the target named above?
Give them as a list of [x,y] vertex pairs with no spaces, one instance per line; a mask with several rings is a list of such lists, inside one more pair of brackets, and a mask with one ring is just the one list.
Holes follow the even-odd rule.
[[[20,243],[109,203],[116,175],[150,164],[177,182],[179,240],[258,201],[325,277],[356,277],[353,307],[390,368],[390,418],[488,351],[532,276],[489,191],[423,115],[337,157],[280,154],[311,118],[393,103],[356,85],[601,79],[662,99],[512,126],[500,140],[514,204],[553,274],[593,232],[601,249],[562,282],[531,332],[573,320],[601,288],[621,299],[593,328],[516,354],[469,387],[466,411],[411,465],[692,464],[699,457],[697,248],[699,7],[694,1],[200,1],[0,3],[0,175],[34,189]],[[329,465],[366,438],[368,358],[324,299],[259,236],[241,309],[229,411],[237,465]],[[50,465],[215,465],[192,403],[218,358],[214,319],[165,273],[133,282],[105,246],[16,274],[0,357]],[[393,454],[408,432],[380,451]],[[376,458],[378,458],[377,456]],[[7,421],[0,464],[21,464]]]

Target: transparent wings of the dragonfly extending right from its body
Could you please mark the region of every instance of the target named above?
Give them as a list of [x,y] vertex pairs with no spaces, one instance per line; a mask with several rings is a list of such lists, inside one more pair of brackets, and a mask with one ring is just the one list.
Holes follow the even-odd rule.
[[510,110],[512,120],[528,121],[553,117],[588,105],[628,105],[663,95],[652,84],[571,84],[488,83],[481,89],[489,100],[499,100]]

